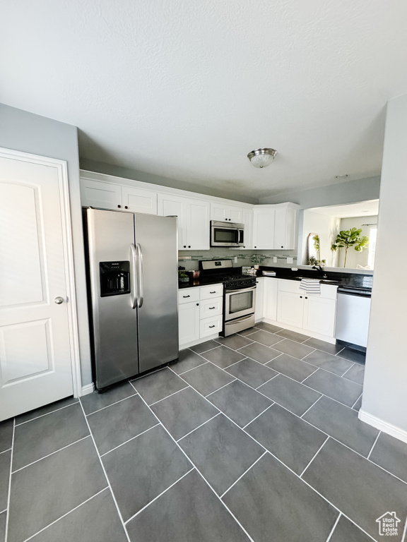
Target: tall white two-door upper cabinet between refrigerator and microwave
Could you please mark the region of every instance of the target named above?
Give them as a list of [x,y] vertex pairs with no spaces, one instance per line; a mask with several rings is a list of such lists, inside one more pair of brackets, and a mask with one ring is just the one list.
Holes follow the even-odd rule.
[[159,193],[158,215],[178,217],[179,250],[209,250],[208,201]]

